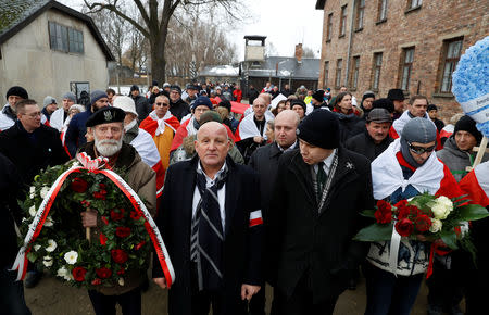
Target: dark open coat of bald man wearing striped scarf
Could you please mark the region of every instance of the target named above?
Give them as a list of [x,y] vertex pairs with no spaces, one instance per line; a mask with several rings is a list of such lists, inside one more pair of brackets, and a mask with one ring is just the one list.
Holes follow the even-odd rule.
[[[190,225],[196,188],[198,156],[173,164],[166,171],[158,227],[163,236],[175,269],[175,284],[170,289],[168,313],[191,314],[190,297]],[[263,225],[249,227],[250,212],[260,210],[260,185],[254,172],[226,160],[226,222],[224,242],[224,289],[231,301],[240,300],[242,284],[262,285]],[[154,264],[153,277],[162,277]],[[233,308],[226,314],[233,314]]]

